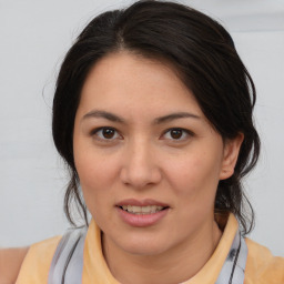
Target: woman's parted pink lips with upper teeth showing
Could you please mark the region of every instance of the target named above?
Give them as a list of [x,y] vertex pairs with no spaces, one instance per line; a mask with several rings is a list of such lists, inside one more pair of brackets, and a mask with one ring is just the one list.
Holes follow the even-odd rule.
[[154,200],[124,200],[116,204],[120,217],[131,226],[144,227],[156,224],[170,206]]

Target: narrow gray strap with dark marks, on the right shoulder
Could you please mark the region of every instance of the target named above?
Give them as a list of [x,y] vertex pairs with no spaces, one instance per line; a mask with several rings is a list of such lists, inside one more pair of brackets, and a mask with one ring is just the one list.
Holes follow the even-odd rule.
[[215,284],[243,284],[247,246],[237,231]]

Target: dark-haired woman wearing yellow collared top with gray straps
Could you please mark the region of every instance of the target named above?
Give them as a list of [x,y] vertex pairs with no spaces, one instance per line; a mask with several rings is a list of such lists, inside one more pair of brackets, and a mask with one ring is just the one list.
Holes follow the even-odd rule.
[[52,125],[67,216],[75,201],[92,220],[32,245],[17,283],[284,283],[284,261],[243,237],[254,103],[209,17],[159,1],[97,17],[61,67]]

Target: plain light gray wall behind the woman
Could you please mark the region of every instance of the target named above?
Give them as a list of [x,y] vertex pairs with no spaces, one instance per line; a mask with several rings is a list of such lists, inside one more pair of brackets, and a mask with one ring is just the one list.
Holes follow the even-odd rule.
[[[51,139],[54,80],[72,41],[115,0],[0,0],[0,246],[28,245],[69,226],[67,173]],[[284,0],[181,1],[231,32],[258,93],[262,155],[245,187],[250,237],[284,256]]]

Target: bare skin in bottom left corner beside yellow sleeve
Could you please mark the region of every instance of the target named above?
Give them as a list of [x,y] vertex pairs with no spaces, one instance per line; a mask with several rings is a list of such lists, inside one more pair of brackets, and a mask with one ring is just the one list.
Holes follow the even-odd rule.
[[14,284],[29,247],[0,248],[0,284]]

